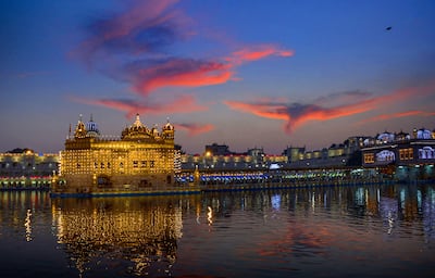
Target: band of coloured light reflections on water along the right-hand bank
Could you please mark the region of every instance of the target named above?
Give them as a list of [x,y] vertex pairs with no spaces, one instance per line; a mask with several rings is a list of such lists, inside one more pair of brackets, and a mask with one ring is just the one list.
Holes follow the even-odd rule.
[[[196,210],[197,224],[200,212],[206,211],[208,224],[231,217],[238,211],[260,211],[268,217],[288,210],[295,215],[330,214],[348,215],[349,219],[382,219],[386,232],[394,223],[412,226],[424,219],[434,224],[435,190],[433,186],[361,186],[332,188],[302,188],[277,191],[225,192],[202,195]],[[432,228],[427,229],[433,232]],[[432,233],[431,233],[432,236]]]

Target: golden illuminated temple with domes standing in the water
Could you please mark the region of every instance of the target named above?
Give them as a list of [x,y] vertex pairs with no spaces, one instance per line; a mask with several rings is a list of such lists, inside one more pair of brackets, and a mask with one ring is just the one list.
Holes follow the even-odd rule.
[[164,189],[174,181],[174,127],[161,131],[136,121],[121,137],[101,136],[98,125],[82,121],[60,154],[53,192],[94,193]]

